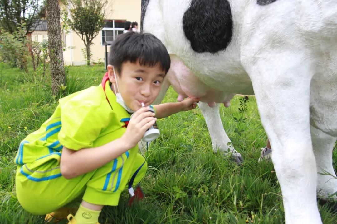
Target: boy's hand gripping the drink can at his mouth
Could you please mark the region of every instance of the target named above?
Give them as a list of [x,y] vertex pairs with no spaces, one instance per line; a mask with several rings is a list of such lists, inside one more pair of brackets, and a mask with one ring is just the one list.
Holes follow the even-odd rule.
[[130,148],[138,144],[143,138],[145,131],[157,120],[154,117],[154,113],[148,110],[149,107],[146,106],[134,112],[125,133],[121,137],[125,144],[129,144]]

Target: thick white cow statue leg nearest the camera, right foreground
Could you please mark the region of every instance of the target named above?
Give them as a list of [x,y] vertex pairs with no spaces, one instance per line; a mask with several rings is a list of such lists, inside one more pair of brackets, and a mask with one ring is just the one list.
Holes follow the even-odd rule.
[[270,52],[268,58],[247,64],[247,71],[273,149],[285,221],[320,224],[317,169],[309,124],[312,69],[306,61],[296,63],[296,59],[302,58],[290,53],[282,58]]

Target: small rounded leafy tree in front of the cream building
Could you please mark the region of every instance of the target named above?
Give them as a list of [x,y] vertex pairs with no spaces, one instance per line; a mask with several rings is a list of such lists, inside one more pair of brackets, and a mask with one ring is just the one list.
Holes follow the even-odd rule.
[[107,5],[108,0],[69,0],[69,25],[84,42],[88,65],[91,61],[90,46],[103,28]]

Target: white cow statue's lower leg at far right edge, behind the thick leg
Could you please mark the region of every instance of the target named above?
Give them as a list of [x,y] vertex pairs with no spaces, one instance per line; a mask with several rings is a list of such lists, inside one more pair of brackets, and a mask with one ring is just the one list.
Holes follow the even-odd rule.
[[[318,172],[317,193],[319,197],[329,197],[329,195],[337,192],[337,178],[332,167],[332,150],[337,138],[312,126],[310,130]],[[332,176],[320,173],[329,173]],[[335,195],[334,198],[337,199],[337,196]]]

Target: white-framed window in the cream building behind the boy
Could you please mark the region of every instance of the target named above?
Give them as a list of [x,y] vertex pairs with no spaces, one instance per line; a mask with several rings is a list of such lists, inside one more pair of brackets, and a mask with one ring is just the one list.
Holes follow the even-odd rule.
[[124,23],[126,20],[104,19],[105,24],[102,29],[102,42],[114,41],[119,34],[124,31]]

